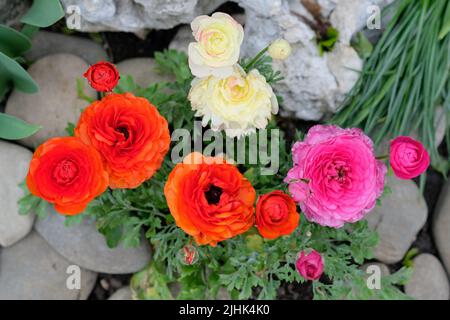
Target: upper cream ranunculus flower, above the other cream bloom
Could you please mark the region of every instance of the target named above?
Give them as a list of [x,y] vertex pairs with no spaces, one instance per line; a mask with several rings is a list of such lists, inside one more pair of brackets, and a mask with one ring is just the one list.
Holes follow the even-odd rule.
[[239,60],[244,29],[231,16],[216,12],[191,23],[195,41],[189,44],[189,67],[196,77],[228,77]]

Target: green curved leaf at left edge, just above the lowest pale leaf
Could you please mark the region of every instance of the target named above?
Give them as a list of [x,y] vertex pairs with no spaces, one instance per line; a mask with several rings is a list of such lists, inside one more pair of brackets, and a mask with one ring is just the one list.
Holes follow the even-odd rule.
[[0,100],[11,84],[25,93],[36,93],[39,88],[20,64],[0,52]]

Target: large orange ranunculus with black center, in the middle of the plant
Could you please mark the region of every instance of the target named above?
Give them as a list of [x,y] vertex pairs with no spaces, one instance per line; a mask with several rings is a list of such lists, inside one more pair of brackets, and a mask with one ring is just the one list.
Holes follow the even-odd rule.
[[187,156],[164,188],[176,224],[199,245],[215,246],[254,224],[255,189],[222,158]]

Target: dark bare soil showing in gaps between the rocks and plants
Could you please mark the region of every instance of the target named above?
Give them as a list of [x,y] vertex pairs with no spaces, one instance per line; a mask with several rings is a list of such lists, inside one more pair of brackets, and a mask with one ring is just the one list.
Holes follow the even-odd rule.
[[[220,11],[229,14],[242,13],[243,9],[235,3],[226,3],[221,6]],[[71,33],[74,36],[91,37],[96,41],[101,41],[107,50],[111,61],[117,63],[125,59],[135,57],[153,57],[155,51],[162,51],[167,48],[176,35],[179,26],[169,30],[152,30],[144,39],[137,37],[131,33],[125,32],[101,32],[99,34]],[[48,30],[56,32],[64,32],[64,24],[62,22],[48,28]],[[0,110],[2,105],[0,104]],[[288,141],[292,141],[296,129],[306,132],[310,127],[317,124],[312,121],[302,121],[291,118],[279,118],[280,127],[285,131]],[[448,155],[448,148],[443,143],[440,148],[442,155]],[[428,221],[424,228],[420,231],[417,240],[412,247],[417,248],[419,253],[427,252],[438,255],[433,238],[431,236],[430,221],[439,193],[444,184],[444,177],[430,169],[425,187],[425,199],[429,208]],[[401,264],[390,265],[391,270],[397,270]],[[129,285],[132,275],[110,275],[99,274],[96,286],[92,291],[90,300],[104,300],[111,296],[117,289],[122,286]],[[278,290],[278,299],[282,300],[310,300],[313,298],[311,282],[304,284],[284,284]]]

